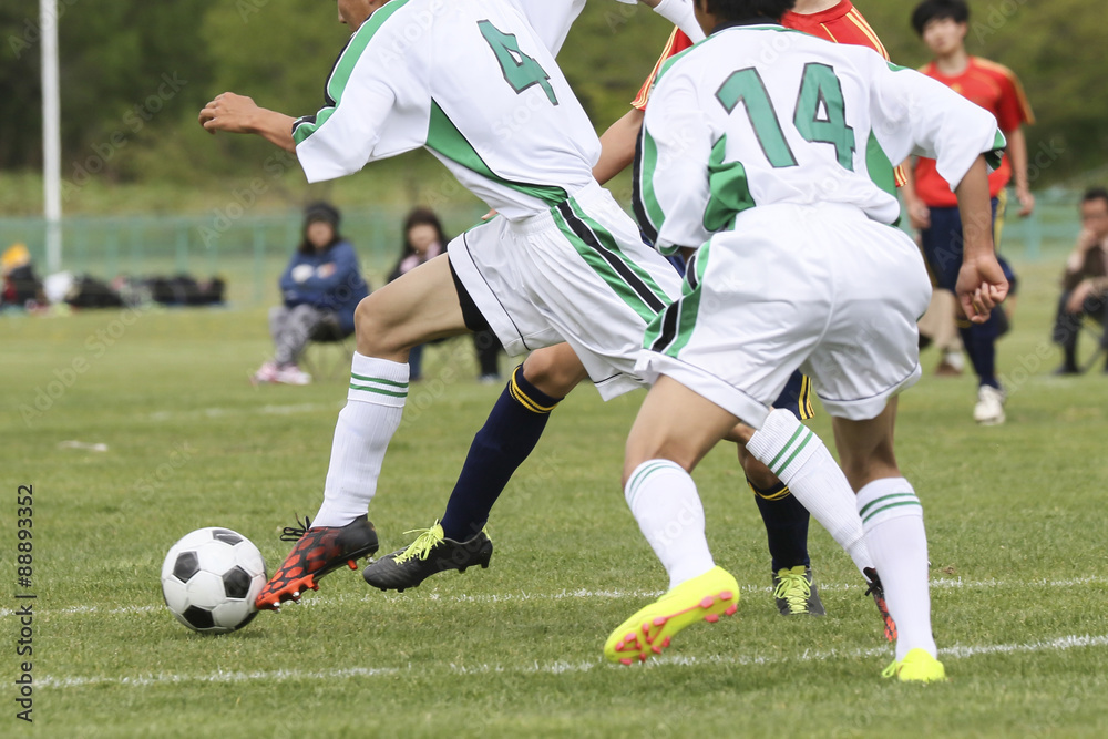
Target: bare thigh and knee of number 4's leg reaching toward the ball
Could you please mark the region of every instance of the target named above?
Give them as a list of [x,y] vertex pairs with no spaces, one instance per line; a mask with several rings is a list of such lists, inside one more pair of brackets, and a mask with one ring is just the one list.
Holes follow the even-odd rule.
[[468,331],[447,255],[420,265],[358,304],[358,352],[368,357]]

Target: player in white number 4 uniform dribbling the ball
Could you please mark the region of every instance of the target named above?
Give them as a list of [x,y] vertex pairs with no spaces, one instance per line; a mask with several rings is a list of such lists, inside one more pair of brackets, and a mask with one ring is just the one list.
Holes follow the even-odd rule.
[[[259,608],[298,599],[377,550],[366,512],[400,423],[411,347],[485,327],[514,353],[565,341],[611,398],[643,386],[634,373],[643,331],[679,294],[668,263],[592,177],[599,142],[529,22],[533,0],[338,7],[357,31],[318,114],[294,120],[224,93],[202,124],[295,152],[310,182],[425,146],[501,216],[359,305],[324,504],[310,525],[287,532],[297,544]],[[505,125],[521,109],[534,112],[531,125]]]

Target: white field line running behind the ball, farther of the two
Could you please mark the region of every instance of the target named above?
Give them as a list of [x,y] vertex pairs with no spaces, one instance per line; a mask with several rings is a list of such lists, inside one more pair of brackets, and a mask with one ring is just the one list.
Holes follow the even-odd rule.
[[[1081,585],[1105,585],[1108,584],[1108,577],[1101,576],[1090,576],[1090,577],[1074,577],[1070,579],[1030,579],[1030,581],[1001,581],[1001,579],[985,579],[985,581],[964,581],[958,578],[937,578],[931,581],[932,589],[1003,589],[1010,587],[1048,587],[1048,588],[1061,588],[1061,587],[1078,587]],[[821,591],[860,591],[861,585],[844,584],[844,583],[830,583],[823,584],[819,583]],[[741,585],[739,589],[743,593],[768,593],[772,588],[762,585]],[[526,601],[566,601],[566,599],[588,599],[588,598],[604,598],[604,599],[624,599],[624,598],[656,598],[661,595],[663,591],[591,591],[587,588],[579,588],[574,591],[560,591],[556,593],[490,593],[485,595],[468,595],[464,593],[456,595],[441,595],[439,593],[429,593],[425,598],[428,601],[445,601],[448,603],[517,603]],[[416,597],[419,597],[418,592]],[[409,597],[403,594],[388,594],[379,595],[376,591],[371,591],[363,595],[353,594],[342,594],[342,595],[315,595],[309,594],[305,599],[300,601],[298,604],[293,604],[286,607],[300,608],[306,606],[316,605],[329,605],[335,603],[351,603],[351,602],[365,602],[371,603],[378,601],[381,597],[387,597],[389,599],[404,598]],[[32,605],[33,601],[30,601]],[[119,608],[104,608],[101,606],[68,606],[64,608],[54,609],[35,609],[34,615],[37,616],[68,616],[68,615],[88,615],[88,614],[143,614],[151,612],[160,612],[165,606],[161,603],[151,604],[144,606],[121,606]],[[17,612],[12,608],[0,608],[0,617],[12,616]]]

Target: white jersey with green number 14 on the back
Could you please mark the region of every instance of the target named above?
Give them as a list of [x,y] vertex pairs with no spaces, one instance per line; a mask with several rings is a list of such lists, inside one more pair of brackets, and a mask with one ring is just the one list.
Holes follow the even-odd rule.
[[892,224],[900,205],[866,170],[871,132],[891,161],[936,158],[954,183],[1004,146],[989,113],[871,49],[776,24],[717,30],[658,75],[635,160],[639,225],[668,254],[759,205],[838,203]]

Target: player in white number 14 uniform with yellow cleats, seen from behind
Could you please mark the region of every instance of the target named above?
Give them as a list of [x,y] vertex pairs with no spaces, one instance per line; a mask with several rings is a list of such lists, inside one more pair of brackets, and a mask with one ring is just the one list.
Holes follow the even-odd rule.
[[683,297],[646,333],[637,369],[655,384],[627,442],[624,482],[671,589],[613,632],[605,654],[643,659],[694,620],[733,609],[701,528],[664,541],[652,533],[699,509],[689,471],[737,420],[758,429],[747,449],[786,484],[825,453],[768,406],[799,367],[833,418],[897,624],[885,675],[941,680],[922,507],[893,453],[896,394],[920,377],[915,321],[931,286],[858,142],[872,131],[893,161],[935,157],[958,183],[958,294],[982,321],[1007,291],[993,256],[985,156],[1004,137],[992,115],[922,74],[786,30],[777,21],[791,4],[695,0],[711,33],[667,65],[646,111],[636,211],[659,248],[695,255]]

